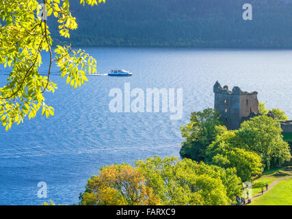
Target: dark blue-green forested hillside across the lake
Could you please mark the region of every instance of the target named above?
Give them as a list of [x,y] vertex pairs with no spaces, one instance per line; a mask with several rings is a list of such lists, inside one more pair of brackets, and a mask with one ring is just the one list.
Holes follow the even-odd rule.
[[[252,0],[253,21],[243,21],[246,0],[107,0],[83,7],[71,0],[79,29],[75,46],[292,48],[292,2]],[[50,17],[55,43],[66,42]]]

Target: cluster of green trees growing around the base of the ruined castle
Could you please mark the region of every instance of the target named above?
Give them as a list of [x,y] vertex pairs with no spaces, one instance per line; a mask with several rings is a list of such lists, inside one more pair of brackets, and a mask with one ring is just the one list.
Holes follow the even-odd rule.
[[[263,103],[260,110],[267,111]],[[280,118],[280,114],[276,115]],[[257,116],[243,122],[236,131],[227,131],[220,124],[214,110],[191,114],[191,123],[181,127],[185,138],[181,155],[222,168],[235,168],[242,181],[261,175],[263,168],[291,160],[289,144],[283,140],[278,120]]]

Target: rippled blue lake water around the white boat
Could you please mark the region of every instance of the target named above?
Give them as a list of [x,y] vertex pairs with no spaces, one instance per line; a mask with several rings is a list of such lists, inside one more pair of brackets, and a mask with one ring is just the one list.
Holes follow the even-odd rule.
[[[38,116],[0,130],[0,205],[78,202],[91,175],[103,165],[159,155],[179,156],[179,127],[191,112],[213,107],[213,84],[257,90],[267,107],[292,118],[292,51],[85,48],[98,60],[98,72],[125,68],[133,77],[89,77],[74,90],[53,76],[55,94],[45,94],[55,116]],[[47,63],[47,57],[44,58]],[[1,68],[3,70],[3,68]],[[42,68],[45,70],[45,67]],[[53,69],[56,72],[57,68]],[[7,75],[1,71],[0,85]],[[183,118],[170,113],[112,113],[109,90],[129,82],[133,88],[183,88]],[[38,182],[48,185],[38,198]]]

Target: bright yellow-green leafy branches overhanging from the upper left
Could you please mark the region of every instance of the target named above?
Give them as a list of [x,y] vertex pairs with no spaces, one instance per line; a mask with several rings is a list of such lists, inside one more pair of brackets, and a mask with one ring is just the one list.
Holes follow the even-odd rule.
[[[55,16],[59,34],[70,37],[70,30],[77,29],[75,17],[70,12],[69,0],[4,0],[0,1],[0,64],[9,68],[7,84],[0,88],[0,122],[6,131],[14,123],[21,123],[25,116],[34,118],[38,110],[49,117],[53,107],[44,102],[44,92],[55,92],[51,81],[51,67],[59,66],[61,77],[71,87],[80,87],[88,79],[85,73],[96,73],[96,60],[81,49],[70,45],[57,46],[52,51],[47,19]],[[98,5],[105,0],[81,0],[81,4]],[[49,53],[50,62],[44,63],[47,76],[39,73],[42,51]]]

